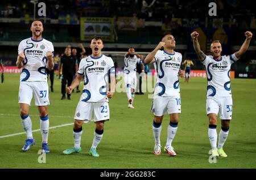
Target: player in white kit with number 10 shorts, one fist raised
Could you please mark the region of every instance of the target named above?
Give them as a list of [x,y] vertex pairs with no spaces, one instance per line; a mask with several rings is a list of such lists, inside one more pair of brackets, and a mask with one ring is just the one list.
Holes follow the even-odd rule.
[[[161,48],[163,50],[160,50]],[[185,72],[180,70],[182,55],[174,51],[175,38],[170,32],[165,32],[160,38],[156,48],[147,55],[145,63],[154,63],[157,72],[157,80],[154,91],[154,100],[151,112],[154,113],[153,134],[155,147],[153,153],[161,154],[160,132],[163,116],[167,112],[170,115],[170,125],[168,126],[167,142],[164,151],[170,156],[176,156],[172,147],[179,114],[181,113],[179,75],[184,78]]]

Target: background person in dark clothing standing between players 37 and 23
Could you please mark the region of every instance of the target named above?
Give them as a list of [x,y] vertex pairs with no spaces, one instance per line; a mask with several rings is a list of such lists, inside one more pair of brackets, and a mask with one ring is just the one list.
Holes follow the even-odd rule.
[[[71,85],[73,80],[73,75],[75,73],[75,65],[76,59],[71,55],[71,48],[65,49],[65,54],[61,56],[60,63],[59,63],[59,75],[61,72],[61,65],[62,67],[62,80],[61,80],[61,93],[62,97],[61,100],[65,100],[65,93],[66,93],[66,84],[68,81],[68,87]],[[70,100],[71,94],[68,94],[68,100]]]

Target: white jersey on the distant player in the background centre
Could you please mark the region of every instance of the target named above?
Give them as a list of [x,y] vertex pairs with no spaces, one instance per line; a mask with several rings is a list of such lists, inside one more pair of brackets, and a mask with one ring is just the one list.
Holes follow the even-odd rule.
[[135,75],[137,70],[136,66],[140,63],[142,63],[142,61],[137,58],[137,55],[134,55],[133,57],[125,57],[125,68],[123,68],[123,72],[125,72],[125,74]]

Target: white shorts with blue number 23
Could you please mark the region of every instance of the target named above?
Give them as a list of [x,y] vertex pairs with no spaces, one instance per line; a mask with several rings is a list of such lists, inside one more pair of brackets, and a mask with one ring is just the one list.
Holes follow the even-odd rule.
[[94,112],[94,122],[108,121],[110,117],[109,102],[84,102],[79,101],[76,107],[75,119],[89,122],[92,120]]

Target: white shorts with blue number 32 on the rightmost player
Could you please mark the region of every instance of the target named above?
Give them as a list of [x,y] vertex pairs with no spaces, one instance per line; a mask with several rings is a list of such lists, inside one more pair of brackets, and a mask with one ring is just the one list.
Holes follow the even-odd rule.
[[207,97],[207,115],[220,113],[220,119],[232,119],[232,97]]

